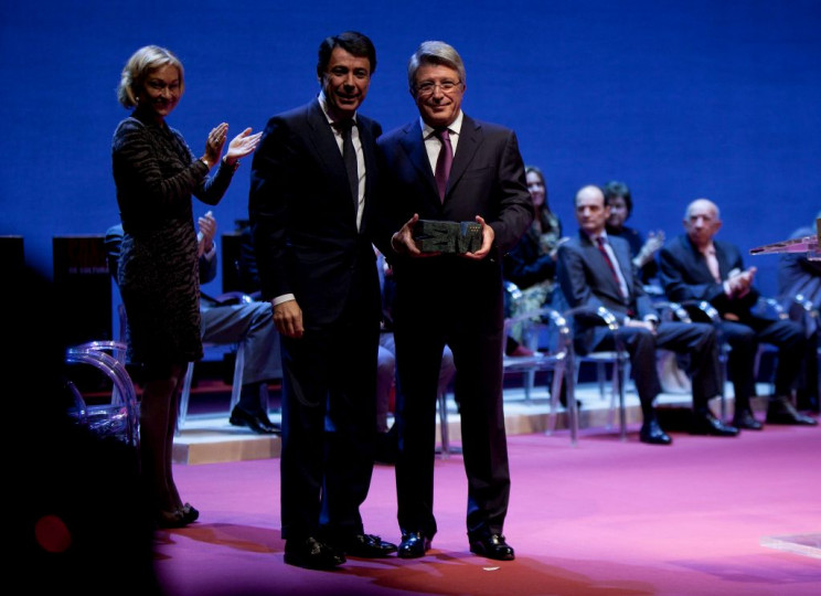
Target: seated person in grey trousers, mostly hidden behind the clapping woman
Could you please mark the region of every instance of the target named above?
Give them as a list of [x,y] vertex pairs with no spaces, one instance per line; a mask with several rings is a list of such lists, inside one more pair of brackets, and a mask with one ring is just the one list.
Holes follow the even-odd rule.
[[[216,276],[216,220],[211,212],[199,219],[200,283],[206,284]],[[117,279],[119,247],[122,226],[115,225],[106,232],[108,269]],[[247,426],[254,433],[279,433],[279,426],[268,418],[267,384],[281,377],[279,338],[274,326],[270,302],[224,304],[204,292],[200,296],[202,339],[213,343],[245,342],[245,366],[239,403],[231,412],[230,423]]]

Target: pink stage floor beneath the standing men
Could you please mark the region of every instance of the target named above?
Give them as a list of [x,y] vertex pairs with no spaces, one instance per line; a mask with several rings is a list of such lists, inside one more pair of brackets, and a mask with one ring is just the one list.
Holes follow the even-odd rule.
[[[761,544],[821,534],[821,428],[673,438],[510,437],[510,563],[468,552],[460,456],[437,462],[429,556],[334,572],[284,564],[278,459],[178,466],[201,518],[158,534],[156,570],[169,596],[821,594],[821,558]],[[366,531],[397,541],[395,505],[394,470],[377,466]]]

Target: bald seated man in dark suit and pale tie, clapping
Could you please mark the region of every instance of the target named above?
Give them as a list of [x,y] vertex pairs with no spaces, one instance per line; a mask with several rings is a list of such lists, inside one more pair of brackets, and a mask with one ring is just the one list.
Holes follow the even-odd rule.
[[684,230],[661,251],[661,279],[671,300],[706,300],[722,317],[722,331],[731,345],[728,371],[735,390],[734,424],[760,429],[749,407],[755,395],[755,358],[759,342],[778,347],[776,395],[767,407],[770,424],[818,424],[799,414],[788,400],[803,360],[807,342],[801,327],[789,320],[765,318],[754,308],[760,294],[753,286],[756,268],[744,268],[733,244],[715,241],[722,227],[718,206],[697,199],[684,213]]

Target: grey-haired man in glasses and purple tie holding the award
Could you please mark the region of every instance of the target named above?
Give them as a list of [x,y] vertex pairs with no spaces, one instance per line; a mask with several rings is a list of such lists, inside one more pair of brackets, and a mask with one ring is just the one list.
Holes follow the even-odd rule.
[[[390,193],[388,232],[380,248],[396,284],[398,555],[423,556],[436,533],[435,412],[447,343],[457,368],[470,550],[512,560],[513,549],[502,535],[510,475],[502,413],[501,257],[533,217],[524,164],[511,130],[461,111],[465,65],[450,45],[424,42],[410,57],[408,84],[420,119],[380,139]],[[419,219],[476,221],[481,248],[459,256],[423,254],[413,238]]]

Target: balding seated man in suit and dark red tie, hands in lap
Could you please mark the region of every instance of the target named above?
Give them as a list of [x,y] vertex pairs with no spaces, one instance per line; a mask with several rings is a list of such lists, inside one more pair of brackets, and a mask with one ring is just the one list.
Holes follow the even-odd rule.
[[[576,194],[576,219],[579,233],[558,247],[557,277],[562,295],[571,307],[604,306],[618,319],[617,333],[630,353],[636,389],[641,400],[643,424],[640,439],[654,445],[669,445],[653,409],[661,393],[655,349],[664,348],[690,355],[693,376],[693,426],[699,435],[735,436],[738,429],[727,426],[710,412],[707,401],[719,393],[716,333],[706,323],[661,321],[636,277],[630,246],[619,237],[609,237],[605,224],[609,207],[600,188],[584,187]],[[577,349],[611,349],[612,333],[605,327],[585,327],[576,319],[579,333]]]

